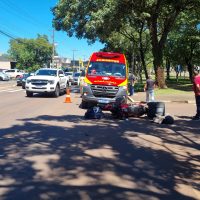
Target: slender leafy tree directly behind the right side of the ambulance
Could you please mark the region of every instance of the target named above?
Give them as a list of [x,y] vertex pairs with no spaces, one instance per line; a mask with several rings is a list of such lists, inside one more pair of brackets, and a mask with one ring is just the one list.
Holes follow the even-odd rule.
[[[145,23],[135,20],[134,25],[126,24],[119,32],[112,32],[109,37],[100,40],[106,51],[119,51],[126,54],[130,71],[141,77],[144,70],[147,77],[147,62],[150,52],[150,38]],[[142,80],[142,77],[140,78]]]

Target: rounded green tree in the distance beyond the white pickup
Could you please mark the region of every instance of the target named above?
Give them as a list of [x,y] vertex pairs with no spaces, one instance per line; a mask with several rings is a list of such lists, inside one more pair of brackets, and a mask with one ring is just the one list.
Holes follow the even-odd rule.
[[19,69],[35,71],[50,64],[52,44],[49,43],[46,35],[38,35],[36,39],[12,39],[9,53],[17,61]]

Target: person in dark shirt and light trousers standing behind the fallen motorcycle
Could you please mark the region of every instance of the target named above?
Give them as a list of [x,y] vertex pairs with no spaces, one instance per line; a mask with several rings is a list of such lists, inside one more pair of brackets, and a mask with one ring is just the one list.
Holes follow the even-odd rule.
[[144,91],[146,92],[146,102],[155,101],[154,88],[155,88],[155,81],[152,80],[151,75],[149,75],[144,85]]

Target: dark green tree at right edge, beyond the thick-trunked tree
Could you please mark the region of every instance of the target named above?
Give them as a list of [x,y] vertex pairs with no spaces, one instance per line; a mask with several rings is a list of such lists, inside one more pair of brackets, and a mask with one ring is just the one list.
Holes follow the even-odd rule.
[[194,65],[199,64],[200,55],[200,14],[193,12],[183,13],[177,20],[176,26],[169,34],[167,50],[171,62],[186,65],[192,80]]

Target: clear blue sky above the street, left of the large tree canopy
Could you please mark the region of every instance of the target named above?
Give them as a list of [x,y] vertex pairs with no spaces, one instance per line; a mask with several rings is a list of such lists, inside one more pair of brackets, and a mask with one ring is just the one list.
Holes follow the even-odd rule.
[[[13,37],[36,38],[46,34],[52,42],[52,19],[50,8],[58,0],[0,0],[0,31]],[[0,54],[7,53],[10,38],[0,34]],[[70,38],[66,32],[55,31],[56,51],[60,56],[87,60],[92,52],[99,51],[103,45],[96,42],[88,45],[86,40]],[[73,51],[74,50],[74,51]]]

